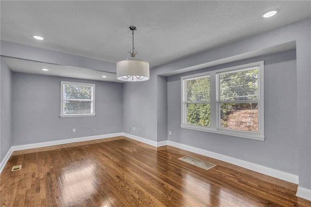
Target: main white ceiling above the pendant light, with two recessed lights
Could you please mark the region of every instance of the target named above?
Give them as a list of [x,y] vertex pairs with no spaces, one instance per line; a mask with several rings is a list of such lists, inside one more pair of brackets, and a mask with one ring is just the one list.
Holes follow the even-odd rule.
[[[1,40],[151,68],[311,17],[311,1],[0,1]],[[262,18],[278,8],[275,17]],[[38,41],[31,35],[42,35]]]

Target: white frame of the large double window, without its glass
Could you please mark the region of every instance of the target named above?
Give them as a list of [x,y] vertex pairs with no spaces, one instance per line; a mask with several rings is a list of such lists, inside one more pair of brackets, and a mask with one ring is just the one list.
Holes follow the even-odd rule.
[[[220,107],[219,107],[219,74],[234,70],[258,68],[258,132],[247,132],[242,130],[225,129],[220,127]],[[210,125],[199,126],[187,124],[187,80],[200,78],[209,75],[210,77]],[[224,69],[211,70],[208,72],[181,77],[181,128],[211,132],[216,134],[264,140],[264,61],[234,66]]]

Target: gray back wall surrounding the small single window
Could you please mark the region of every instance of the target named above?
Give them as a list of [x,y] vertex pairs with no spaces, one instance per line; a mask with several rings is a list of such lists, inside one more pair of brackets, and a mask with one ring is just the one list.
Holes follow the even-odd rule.
[[[94,83],[96,116],[60,118],[60,81]],[[13,72],[12,94],[12,145],[122,131],[120,83]]]

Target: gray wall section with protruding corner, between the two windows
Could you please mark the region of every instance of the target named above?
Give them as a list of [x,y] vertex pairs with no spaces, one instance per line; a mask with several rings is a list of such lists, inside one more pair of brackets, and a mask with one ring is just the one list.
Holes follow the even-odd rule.
[[167,140],[167,77],[155,72],[148,81],[123,84],[123,132],[158,142]]

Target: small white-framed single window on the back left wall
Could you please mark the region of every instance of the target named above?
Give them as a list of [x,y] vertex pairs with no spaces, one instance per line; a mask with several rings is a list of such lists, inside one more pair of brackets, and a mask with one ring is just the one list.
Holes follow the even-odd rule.
[[61,81],[60,117],[95,116],[95,84]]

